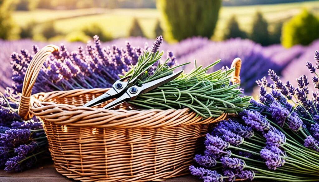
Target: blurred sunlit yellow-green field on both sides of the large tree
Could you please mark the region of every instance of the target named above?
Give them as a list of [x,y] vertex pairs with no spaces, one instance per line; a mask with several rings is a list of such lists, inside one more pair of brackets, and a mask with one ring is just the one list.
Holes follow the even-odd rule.
[[[219,40],[223,35],[228,18],[235,14],[242,29],[250,32],[253,15],[256,11],[263,12],[269,24],[284,21],[298,14],[302,8],[307,8],[319,15],[319,2],[301,2],[290,4],[273,5],[253,5],[222,7],[219,13],[219,21],[213,37]],[[35,10],[35,11],[15,11],[13,18],[18,25],[35,21],[43,23],[49,20],[56,20],[56,28],[63,32],[79,30],[82,26],[93,23],[99,24],[105,31],[111,33],[115,38],[127,37],[132,19],[138,18],[145,35],[154,37],[154,26],[159,17],[156,9],[82,9],[82,10]]]

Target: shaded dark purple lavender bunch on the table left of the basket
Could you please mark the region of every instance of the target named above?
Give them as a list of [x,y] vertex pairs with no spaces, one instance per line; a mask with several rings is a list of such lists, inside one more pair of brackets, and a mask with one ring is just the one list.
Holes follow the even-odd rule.
[[41,121],[35,117],[22,120],[17,114],[18,103],[19,96],[12,90],[0,92],[0,168],[5,171],[22,171],[49,156]]

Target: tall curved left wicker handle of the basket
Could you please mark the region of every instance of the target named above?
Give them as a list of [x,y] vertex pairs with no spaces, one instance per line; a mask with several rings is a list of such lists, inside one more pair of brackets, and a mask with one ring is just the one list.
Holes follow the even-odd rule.
[[28,68],[26,69],[26,75],[24,76],[21,98],[19,102],[18,114],[24,120],[30,119],[30,96],[32,87],[40,72],[40,69],[47,59],[48,55],[52,52],[59,51],[59,47],[55,45],[47,45],[38,51],[32,58]]

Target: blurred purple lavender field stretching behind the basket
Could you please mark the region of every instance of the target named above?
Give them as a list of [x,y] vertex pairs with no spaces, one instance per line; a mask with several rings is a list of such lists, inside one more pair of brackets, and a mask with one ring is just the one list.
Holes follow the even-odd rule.
[[[141,47],[141,50],[152,45],[153,40],[146,38],[122,38],[110,42],[101,43],[101,47],[112,47],[116,45],[126,47],[126,41],[130,42],[133,47]],[[87,47],[84,43],[79,42],[50,42],[55,45],[64,44],[68,54],[78,50],[78,47]],[[12,85],[11,54],[13,52],[21,53],[21,49],[28,50],[33,55],[33,45],[43,47],[47,42],[35,42],[32,40],[4,41],[0,40],[0,62],[1,62],[1,80],[0,90]],[[89,44],[94,44],[92,41]],[[246,94],[252,93],[255,81],[267,76],[268,69],[273,69],[281,74],[285,79],[295,82],[293,79],[301,74],[308,74],[306,62],[313,59],[314,50],[318,49],[319,40],[314,41],[309,46],[296,45],[289,49],[281,45],[271,45],[263,47],[251,40],[231,39],[221,42],[214,42],[206,38],[193,37],[182,40],[179,43],[168,44],[163,42],[160,50],[165,52],[172,51],[179,64],[185,62],[197,61],[197,65],[207,66],[216,60],[221,59],[221,63],[215,67],[219,69],[223,66],[230,66],[234,58],[242,59],[241,68],[241,87]],[[88,50],[85,50],[86,52]],[[165,53],[166,54],[166,53]],[[111,60],[112,61],[112,60]],[[14,64],[13,64],[14,65]],[[184,70],[189,72],[194,64],[184,66]],[[212,70],[211,70],[212,71]],[[309,73],[310,74],[310,73]]]

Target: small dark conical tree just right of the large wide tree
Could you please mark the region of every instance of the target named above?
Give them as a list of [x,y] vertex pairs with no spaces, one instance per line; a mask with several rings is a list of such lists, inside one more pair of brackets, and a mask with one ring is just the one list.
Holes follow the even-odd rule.
[[235,15],[233,15],[227,23],[227,28],[226,28],[225,34],[224,34],[224,40],[230,39],[230,38],[236,38],[236,37],[240,37],[242,39],[245,39],[245,38],[247,38],[247,33],[242,31],[239,28],[237,19],[236,19]]

